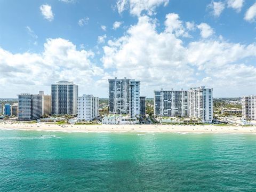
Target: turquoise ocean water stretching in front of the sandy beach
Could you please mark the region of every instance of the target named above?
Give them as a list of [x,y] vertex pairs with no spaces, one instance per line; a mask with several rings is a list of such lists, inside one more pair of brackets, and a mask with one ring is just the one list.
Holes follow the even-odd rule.
[[256,191],[256,135],[0,130],[0,191]]

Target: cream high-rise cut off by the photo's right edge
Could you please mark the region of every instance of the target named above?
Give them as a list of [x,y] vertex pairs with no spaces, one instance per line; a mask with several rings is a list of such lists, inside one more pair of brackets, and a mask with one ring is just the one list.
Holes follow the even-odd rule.
[[243,119],[256,120],[256,95],[242,97],[242,117]]

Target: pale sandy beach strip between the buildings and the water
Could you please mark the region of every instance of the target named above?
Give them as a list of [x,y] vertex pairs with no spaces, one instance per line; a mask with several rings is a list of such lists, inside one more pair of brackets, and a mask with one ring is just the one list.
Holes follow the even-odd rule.
[[57,125],[54,123],[0,122],[2,130],[61,132],[183,132],[183,133],[256,133],[256,126],[217,125]]

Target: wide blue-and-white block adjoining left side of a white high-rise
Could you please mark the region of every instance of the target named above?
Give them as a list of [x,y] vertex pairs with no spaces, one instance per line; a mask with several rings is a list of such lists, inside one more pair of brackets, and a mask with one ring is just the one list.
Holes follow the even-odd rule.
[[188,92],[187,91],[155,91],[154,115],[178,116],[188,115]]

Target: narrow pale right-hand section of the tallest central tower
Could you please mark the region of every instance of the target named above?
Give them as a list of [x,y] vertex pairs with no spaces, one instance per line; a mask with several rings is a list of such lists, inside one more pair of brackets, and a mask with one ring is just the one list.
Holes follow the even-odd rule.
[[135,118],[140,115],[140,81],[130,79],[129,88],[129,114]]

